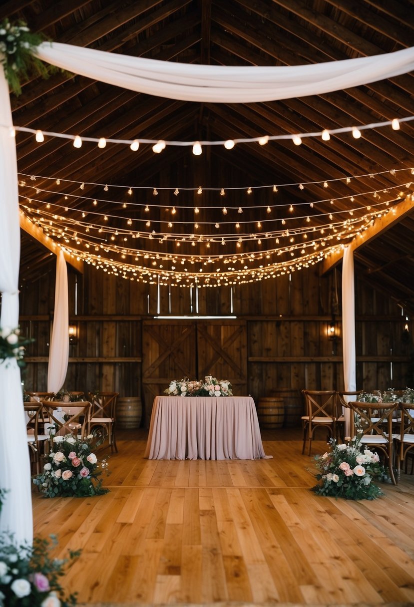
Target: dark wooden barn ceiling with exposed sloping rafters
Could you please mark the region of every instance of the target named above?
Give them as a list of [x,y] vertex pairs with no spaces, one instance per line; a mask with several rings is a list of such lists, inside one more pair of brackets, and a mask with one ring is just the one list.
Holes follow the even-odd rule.
[[[414,40],[412,0],[11,0],[0,7],[0,18],[4,16],[24,19],[31,30],[44,33],[52,41],[163,61],[226,66],[337,61],[393,52],[412,46]],[[310,133],[413,116],[413,82],[412,74],[406,74],[313,97],[217,104],[152,97],[83,76],[55,73],[48,80],[34,79],[24,84],[22,95],[12,96],[13,123],[43,131],[122,140],[215,141]],[[195,205],[205,207],[205,219],[213,225],[214,221],[219,225],[218,217],[223,220],[222,207],[228,206],[226,220],[251,222],[242,226],[245,234],[256,233],[253,221],[267,219],[263,211],[267,205],[271,206],[274,222],[290,217],[289,227],[299,229],[308,216],[308,224],[319,230],[321,214],[332,212],[333,222],[345,222],[366,215],[367,207],[385,212],[386,201],[392,207],[414,191],[410,183],[414,182],[413,132],[414,121],[407,121],[401,123],[399,131],[390,126],[364,130],[359,140],[344,133],[328,142],[320,137],[303,138],[300,146],[286,140],[263,146],[238,144],[231,151],[223,146],[205,146],[200,157],[194,157],[191,148],[177,146],[167,146],[158,155],[150,145],[142,144],[138,152],[131,152],[129,146],[109,144],[98,150],[96,144],[87,143],[76,150],[70,141],[61,138],[46,138],[38,144],[32,135],[18,132],[19,181],[25,182],[19,188],[21,204],[32,205],[32,215],[27,213],[33,216],[37,209],[44,211],[47,203],[52,209],[53,205],[62,208],[62,197],[68,195],[69,202],[64,203],[69,208],[67,216],[75,221],[84,212],[86,221],[104,226],[104,214],[117,215],[112,220],[116,228],[132,218],[137,222],[135,229],[141,236],[146,232],[146,237],[144,243],[142,238],[135,239],[135,244],[129,239],[128,246],[152,251],[154,256],[162,248],[172,251],[173,242],[150,242],[154,222],[151,228],[143,225],[148,217],[145,203],[151,205],[157,234],[166,231],[160,226],[171,219],[174,205],[185,222],[180,227],[175,225],[174,231],[183,234],[194,231],[187,224],[194,223]],[[350,183],[347,177],[351,177]],[[56,178],[61,180],[60,188]],[[83,192],[80,183],[85,184]],[[299,186],[302,183],[304,189]],[[106,184],[107,192],[103,191]],[[197,197],[200,185],[205,188],[202,203]],[[276,194],[273,185],[277,185]],[[250,197],[246,194],[248,187],[259,186],[268,187],[254,189]],[[157,197],[152,194],[154,187],[159,189]],[[241,189],[231,190],[236,187]],[[38,194],[34,188],[39,189]],[[126,188],[148,189],[134,189],[128,198]],[[175,188],[182,188],[177,196]],[[190,191],[183,192],[185,188]],[[226,194],[220,198],[221,188]],[[32,200],[30,205],[28,198]],[[99,200],[95,209],[93,198]],[[114,200],[117,205],[111,202]],[[122,211],[120,203],[131,200],[137,206]],[[312,208],[313,202],[317,204]],[[217,208],[207,208],[213,206]],[[245,209],[243,217],[237,215],[239,206]],[[231,229],[236,233],[234,223]],[[276,233],[275,226],[268,226],[266,229]],[[212,245],[217,254],[223,253],[219,251],[222,229],[222,225],[217,228],[217,246]],[[327,232],[331,240],[327,237],[327,242],[321,243],[323,237],[319,235],[317,246],[333,245],[335,232]],[[388,231],[356,249],[355,256],[357,270],[368,282],[414,312],[413,232],[413,215],[407,212]],[[75,246],[76,237],[86,242],[82,240],[87,237],[82,226],[76,233],[71,246]],[[280,246],[285,243],[283,255],[287,255],[290,239],[284,234],[283,238]],[[299,237],[295,235],[295,239]],[[265,238],[263,243],[262,251],[270,248]],[[187,239],[182,253],[208,255],[205,241],[200,245],[197,242],[195,251],[190,245]],[[243,247],[255,252],[257,237]],[[226,254],[236,256],[236,241],[226,243],[225,249]],[[277,255],[276,250],[272,255]],[[292,257],[297,256],[299,249]],[[46,249],[24,236],[21,280],[32,280],[44,271],[45,263],[50,263]]]

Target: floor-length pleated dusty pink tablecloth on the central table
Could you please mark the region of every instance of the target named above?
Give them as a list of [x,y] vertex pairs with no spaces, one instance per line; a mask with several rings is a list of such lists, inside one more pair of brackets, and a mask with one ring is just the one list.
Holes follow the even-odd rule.
[[265,458],[251,396],[156,396],[148,459]]

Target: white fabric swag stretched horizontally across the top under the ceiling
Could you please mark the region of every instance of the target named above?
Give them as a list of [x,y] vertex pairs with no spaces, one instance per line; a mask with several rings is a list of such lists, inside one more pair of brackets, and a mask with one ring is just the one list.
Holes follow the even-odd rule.
[[414,69],[414,47],[384,55],[305,66],[199,66],[42,42],[39,59],[107,84],[157,97],[214,103],[251,103],[367,84]]

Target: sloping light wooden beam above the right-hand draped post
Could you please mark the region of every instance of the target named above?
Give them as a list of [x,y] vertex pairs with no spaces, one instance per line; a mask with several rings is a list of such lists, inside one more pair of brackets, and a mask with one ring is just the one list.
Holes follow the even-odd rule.
[[[414,201],[411,196],[407,196],[404,202],[400,202],[398,205],[395,205],[393,209],[376,220],[373,226],[365,230],[364,234],[361,236],[356,236],[353,240],[351,240],[348,246],[351,247],[351,251],[355,253],[361,246],[367,245],[371,240],[375,239],[382,232],[387,231],[392,228],[393,225],[400,222],[403,217],[409,215],[413,212],[414,209]],[[322,262],[321,266],[321,276],[324,276],[328,271],[332,270],[338,263],[341,261],[344,256],[344,249],[336,253],[328,254],[326,259]]]

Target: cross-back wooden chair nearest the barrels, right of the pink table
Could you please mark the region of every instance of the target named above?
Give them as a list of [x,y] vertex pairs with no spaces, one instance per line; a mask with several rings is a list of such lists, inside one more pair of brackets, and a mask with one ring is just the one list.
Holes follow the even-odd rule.
[[336,390],[302,390],[305,397],[307,415],[302,415],[305,453],[306,441],[309,441],[308,455],[311,454],[314,432],[324,428],[332,437],[336,436]]

